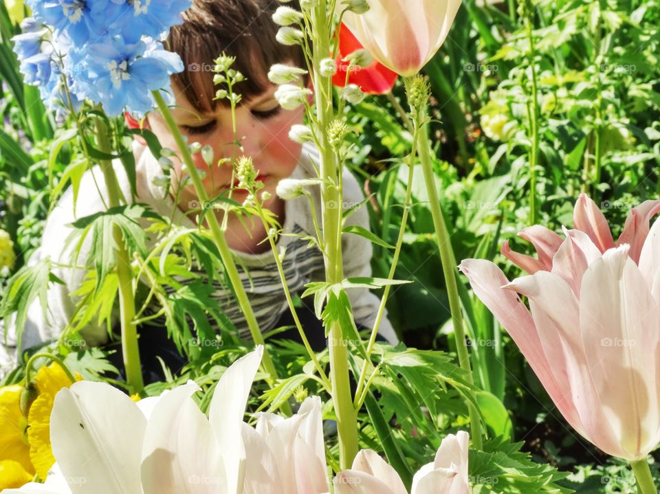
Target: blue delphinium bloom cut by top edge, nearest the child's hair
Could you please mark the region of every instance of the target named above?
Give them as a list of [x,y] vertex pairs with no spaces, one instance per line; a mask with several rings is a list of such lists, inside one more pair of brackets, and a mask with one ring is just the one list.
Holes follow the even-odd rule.
[[162,39],[173,25],[183,23],[181,13],[190,8],[191,0],[111,0],[120,7],[112,10],[108,31],[121,32],[126,43],[140,36]]

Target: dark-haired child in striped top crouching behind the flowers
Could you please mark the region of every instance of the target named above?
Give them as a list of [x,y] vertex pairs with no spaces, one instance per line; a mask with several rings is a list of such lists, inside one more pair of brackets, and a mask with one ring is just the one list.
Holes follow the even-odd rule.
[[[284,232],[314,235],[309,200],[306,197],[298,197],[283,201],[275,192],[281,179],[314,177],[316,174],[312,161],[318,163],[318,152],[314,146],[301,146],[288,137],[292,125],[303,122],[303,107],[285,110],[279,106],[274,98],[276,86],[267,79],[270,66],[276,63],[289,63],[298,67],[305,65],[298,47],[281,45],[275,41],[277,26],[271,16],[277,5],[277,2],[271,0],[192,1],[192,7],[184,14],[184,24],[173,27],[168,41],[169,49],[181,56],[186,67],[183,73],[173,76],[172,87],[177,103],[173,115],[181,132],[188,137],[189,143],[199,142],[202,146],[212,147],[214,161],[221,157],[232,157],[234,154],[232,113],[230,108],[225,106],[227,100],[214,100],[217,88],[212,82],[212,67],[214,58],[217,58],[221,52],[235,56],[234,68],[245,76],[245,80],[236,85],[236,92],[241,93],[242,96],[241,104],[236,109],[236,136],[242,146],[239,155],[252,157],[254,167],[259,170],[259,180],[265,185],[263,190],[271,194],[265,207],[278,216]],[[177,149],[161,115],[156,113],[148,115],[146,126],[157,135],[162,146]],[[162,216],[169,217],[175,211],[175,223],[194,228],[196,225],[191,218],[195,215],[186,214],[189,210],[200,207],[192,186],[182,188],[179,202],[176,205],[174,203],[175,180],[181,177],[179,161],[173,160],[175,161],[174,172],[171,174],[173,187],[170,187],[170,194],[166,195],[165,188],[155,185],[154,181],[155,177],[162,175],[158,161],[146,146],[135,142],[133,147],[137,172],[135,201],[148,204]],[[195,160],[197,168],[206,172],[203,183],[208,197],[217,197],[223,190],[230,188],[231,164],[209,167],[199,153],[195,156]],[[115,164],[115,172],[124,197],[130,198],[129,181],[120,164]],[[67,225],[76,217],[88,216],[104,209],[104,201],[94,184],[94,178],[101,194],[105,194],[104,181],[98,167],[94,169],[94,177],[91,172],[87,172],[80,186],[76,214],[74,215],[72,190],[68,190],[47,218],[43,245],[33,256],[33,260],[50,256],[52,260],[59,260],[64,264],[70,262],[70,253],[65,251],[65,239],[70,232],[70,227]],[[364,199],[358,182],[348,171],[344,171],[343,183],[344,208],[351,207]],[[314,197],[318,214],[321,210],[320,190],[310,188],[309,192]],[[245,199],[244,191],[234,190],[232,194],[238,201]],[[320,222],[320,218],[318,221]],[[366,209],[360,207],[349,218],[349,222],[368,228],[369,218]],[[241,278],[248,291],[259,327],[266,332],[281,326],[282,322],[289,324],[286,322],[289,308],[270,245],[267,242],[261,243],[266,236],[261,222],[246,223],[247,228],[232,214],[228,218],[226,238],[234,254],[241,261],[239,262]],[[296,236],[278,238],[278,248],[286,247],[284,268],[292,293],[303,291],[307,282],[325,278],[322,254],[316,248],[307,248],[307,244],[306,240]],[[344,276],[347,278],[371,276],[369,265],[372,254],[371,243],[361,236],[346,235],[342,239],[342,246]],[[85,258],[84,252],[80,258]],[[248,280],[248,273],[241,269],[241,265],[247,267],[252,285]],[[43,318],[39,302],[33,304],[23,335],[23,348],[56,339],[74,315],[78,301],[71,294],[83,282],[85,270],[56,268],[54,274],[64,280],[65,285],[51,284],[48,291],[46,319]],[[239,336],[248,337],[245,317],[230,291],[218,284],[214,287],[216,291],[212,296],[220,302],[229,319],[238,328]],[[371,329],[380,299],[366,289],[352,289],[348,293],[355,322],[363,328]],[[325,346],[325,336],[320,322],[309,315],[303,315],[301,319],[308,321],[305,331],[313,346],[317,350]],[[151,330],[148,333],[142,330],[140,347],[141,350],[148,352],[148,358],[153,359],[157,351],[151,341],[155,341],[155,338],[162,340],[165,330],[162,321],[151,322],[151,326],[158,326],[160,334],[155,336],[152,334],[155,332]],[[82,335],[87,343],[93,346],[108,341],[106,328],[96,323],[86,327]],[[287,337],[294,339],[297,335],[295,330],[294,333],[287,333]],[[380,335],[392,343],[397,341],[386,317],[382,319]],[[148,351],[150,349],[151,352]],[[4,351],[7,352],[8,349],[5,348]],[[5,355],[5,360],[7,358]],[[0,350],[0,364],[1,359]]]

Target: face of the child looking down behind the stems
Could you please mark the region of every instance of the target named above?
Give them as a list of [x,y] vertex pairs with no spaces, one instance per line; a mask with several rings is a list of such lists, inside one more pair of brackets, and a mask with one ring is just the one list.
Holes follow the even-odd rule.
[[[236,150],[236,157],[252,157],[254,168],[259,170],[259,180],[264,183],[263,190],[270,192],[273,197],[278,181],[289,177],[298,164],[302,146],[289,139],[289,130],[292,125],[303,122],[305,111],[304,106],[296,110],[285,110],[279,106],[274,98],[276,89],[277,87],[272,85],[260,96],[242,102],[236,108],[236,137],[242,146],[242,150]],[[206,172],[203,183],[208,196],[218,197],[221,192],[230,188],[232,180],[232,158],[235,149],[232,111],[218,104],[212,113],[200,113],[188,102],[180,88],[174,86],[173,91],[177,106],[172,113],[181,133],[188,136],[189,144],[208,144],[214,151],[214,165],[210,167],[203,161],[201,153],[193,158],[195,166]],[[148,122],[162,146],[177,150],[161,115],[150,114]],[[219,166],[215,165],[222,158],[230,160]],[[173,181],[181,177],[179,162],[175,163],[175,172]],[[193,195],[192,186],[184,190],[184,195]],[[242,201],[246,192],[234,189],[232,195],[237,201]]]

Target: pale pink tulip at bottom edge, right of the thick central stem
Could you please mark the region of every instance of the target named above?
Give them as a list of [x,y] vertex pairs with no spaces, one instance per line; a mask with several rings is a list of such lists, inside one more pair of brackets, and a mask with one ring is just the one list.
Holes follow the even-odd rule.
[[[442,440],[435,460],[412,478],[412,494],[470,494],[467,478],[467,432]],[[408,494],[399,474],[371,449],[363,449],[353,468],[337,474],[335,494]]]

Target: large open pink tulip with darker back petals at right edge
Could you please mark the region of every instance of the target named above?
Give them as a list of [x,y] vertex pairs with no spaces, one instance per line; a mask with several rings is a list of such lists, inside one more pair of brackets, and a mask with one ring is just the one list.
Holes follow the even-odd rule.
[[659,211],[660,201],[635,207],[615,243],[583,194],[563,240],[544,227],[521,232],[538,258],[503,247],[530,276],[509,283],[487,260],[460,266],[569,424],[630,462],[660,442],[660,221],[648,226]]

